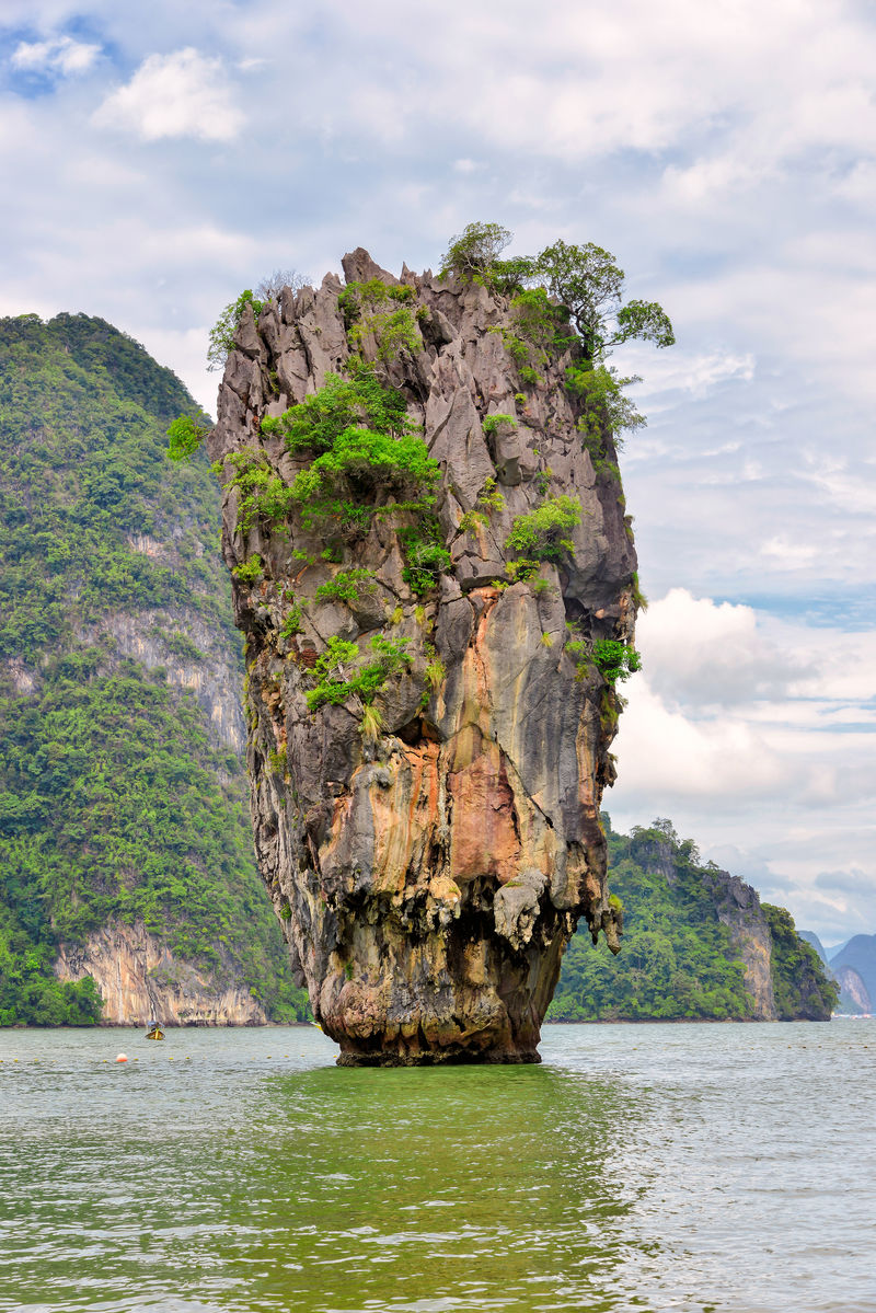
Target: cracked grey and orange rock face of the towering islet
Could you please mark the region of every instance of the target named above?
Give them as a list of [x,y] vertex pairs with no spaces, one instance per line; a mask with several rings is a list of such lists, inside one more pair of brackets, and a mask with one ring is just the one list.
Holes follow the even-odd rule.
[[[327,276],[247,307],[210,437],[259,863],[341,1062],[537,1061],[578,919],[620,928],[599,822],[620,700],[592,645],[632,642],[636,557],[611,435],[591,457],[567,345],[521,348],[507,299],[361,249],[344,272],[357,302]],[[437,482],[351,466],[315,515],[296,478],[324,448],[263,424],[331,376],[401,394]],[[515,565],[544,507],[561,527]]]

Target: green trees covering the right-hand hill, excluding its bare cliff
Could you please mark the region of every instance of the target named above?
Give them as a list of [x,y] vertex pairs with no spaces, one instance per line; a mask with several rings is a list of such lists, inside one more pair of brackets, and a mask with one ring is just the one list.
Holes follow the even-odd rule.
[[[754,1003],[729,931],[718,920],[711,892],[717,868],[703,864],[695,844],[680,842],[668,821],[608,838],[612,902],[624,916],[617,957],[586,927],[573,937],[562,962],[550,1022],[743,1020]],[[617,906],[617,903],[616,903]],[[797,1015],[801,964],[809,952],[783,909],[763,911],[774,935],[774,989],[783,1016]],[[827,982],[823,972],[818,977]]]

